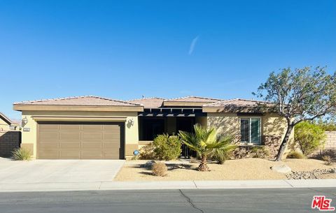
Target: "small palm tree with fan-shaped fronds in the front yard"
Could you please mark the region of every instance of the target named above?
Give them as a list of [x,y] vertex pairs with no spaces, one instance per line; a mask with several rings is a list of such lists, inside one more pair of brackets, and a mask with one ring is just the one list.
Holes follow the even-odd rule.
[[200,124],[194,125],[195,133],[179,131],[181,142],[187,147],[193,149],[201,157],[199,171],[209,171],[207,165],[207,156],[214,152],[214,149],[221,149],[230,146],[232,139],[230,137],[223,138],[218,135],[216,128],[206,128]]

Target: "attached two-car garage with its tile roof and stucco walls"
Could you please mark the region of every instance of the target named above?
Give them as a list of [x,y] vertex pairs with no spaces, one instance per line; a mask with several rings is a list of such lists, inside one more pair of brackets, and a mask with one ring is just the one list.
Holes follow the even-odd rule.
[[22,112],[20,146],[35,159],[127,159],[139,148],[137,103],[77,96],[13,108]]

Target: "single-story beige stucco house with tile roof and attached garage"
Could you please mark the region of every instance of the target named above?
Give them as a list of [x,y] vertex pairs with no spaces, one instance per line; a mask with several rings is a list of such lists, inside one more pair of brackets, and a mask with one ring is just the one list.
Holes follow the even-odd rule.
[[22,144],[36,159],[125,159],[160,133],[216,126],[244,156],[255,145],[279,148],[285,119],[258,112],[258,101],[187,96],[118,101],[78,96],[14,103],[22,112]]

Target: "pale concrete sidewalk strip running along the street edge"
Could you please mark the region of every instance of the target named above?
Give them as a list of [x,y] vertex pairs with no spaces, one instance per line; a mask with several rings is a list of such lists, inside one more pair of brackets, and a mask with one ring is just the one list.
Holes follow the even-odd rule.
[[45,182],[0,184],[0,192],[155,189],[288,189],[336,187],[336,179],[276,179],[174,182]]

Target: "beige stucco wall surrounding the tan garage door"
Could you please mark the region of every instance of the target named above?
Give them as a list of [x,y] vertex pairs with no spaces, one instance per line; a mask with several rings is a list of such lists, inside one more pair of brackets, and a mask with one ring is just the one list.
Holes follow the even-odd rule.
[[[130,152],[127,149],[137,147],[139,141],[138,119],[137,112],[73,112],[73,111],[23,111],[22,118],[27,117],[28,123],[23,128],[30,128],[30,131],[23,131],[22,128],[22,145],[33,144],[34,155],[36,157],[36,142],[37,142],[37,122],[31,116],[109,116],[109,117],[127,117],[125,123],[125,152]],[[127,121],[133,119],[134,124],[129,125]],[[94,120],[92,120],[94,121]],[[127,146],[128,145],[128,146]],[[130,147],[130,148],[127,148]]]

